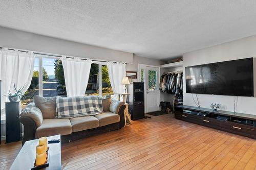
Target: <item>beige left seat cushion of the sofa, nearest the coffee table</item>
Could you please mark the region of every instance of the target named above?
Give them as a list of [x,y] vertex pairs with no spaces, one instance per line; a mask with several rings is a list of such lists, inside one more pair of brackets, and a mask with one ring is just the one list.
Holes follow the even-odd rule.
[[51,118],[42,120],[41,126],[36,129],[35,137],[68,135],[71,133],[72,126],[69,119]]

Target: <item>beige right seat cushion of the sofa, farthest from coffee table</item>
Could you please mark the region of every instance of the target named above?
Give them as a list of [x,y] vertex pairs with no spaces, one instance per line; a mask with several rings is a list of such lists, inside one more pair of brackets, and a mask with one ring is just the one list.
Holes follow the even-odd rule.
[[120,116],[112,112],[104,112],[101,114],[97,114],[95,115],[95,117],[99,119],[100,127],[120,122]]

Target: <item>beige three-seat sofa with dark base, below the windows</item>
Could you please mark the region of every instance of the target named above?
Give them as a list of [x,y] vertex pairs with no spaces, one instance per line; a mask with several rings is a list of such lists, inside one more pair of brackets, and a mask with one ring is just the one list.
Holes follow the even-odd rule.
[[123,102],[103,99],[103,113],[73,118],[55,118],[55,103],[56,98],[35,96],[34,103],[24,108],[20,114],[20,122],[24,125],[23,144],[27,140],[57,134],[61,135],[62,142],[68,142],[124,126]]

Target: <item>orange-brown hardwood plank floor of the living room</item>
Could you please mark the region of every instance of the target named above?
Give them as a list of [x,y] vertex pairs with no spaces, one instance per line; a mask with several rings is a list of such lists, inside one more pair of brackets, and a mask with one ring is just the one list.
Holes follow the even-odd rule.
[[[1,144],[8,169],[21,142]],[[256,140],[152,116],[119,131],[62,145],[63,169],[256,169]]]

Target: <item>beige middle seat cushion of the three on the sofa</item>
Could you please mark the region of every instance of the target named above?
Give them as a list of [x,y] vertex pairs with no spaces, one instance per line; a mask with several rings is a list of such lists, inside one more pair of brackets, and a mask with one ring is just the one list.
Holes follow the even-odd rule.
[[72,125],[72,132],[99,127],[99,120],[94,116],[74,117],[70,119],[70,123]]

